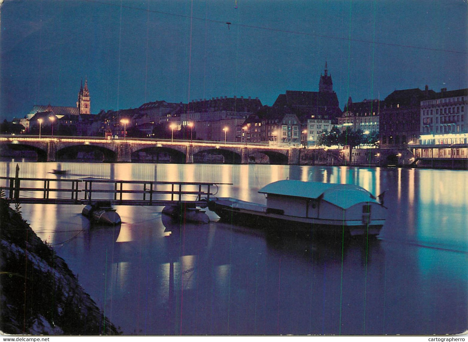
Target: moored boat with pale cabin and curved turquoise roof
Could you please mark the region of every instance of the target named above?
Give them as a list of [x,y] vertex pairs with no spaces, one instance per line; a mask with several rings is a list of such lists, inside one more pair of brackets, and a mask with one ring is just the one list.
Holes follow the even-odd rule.
[[366,189],[349,184],[280,180],[258,192],[266,205],[233,198],[210,199],[208,208],[221,220],[267,230],[347,231],[378,235],[387,208]]

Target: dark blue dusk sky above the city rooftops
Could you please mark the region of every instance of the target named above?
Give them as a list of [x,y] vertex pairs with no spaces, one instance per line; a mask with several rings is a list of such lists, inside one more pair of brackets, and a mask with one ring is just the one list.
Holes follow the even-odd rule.
[[325,59],[341,108],[349,96],[466,88],[467,8],[463,0],[5,0],[0,114],[74,106],[86,75],[93,114],[234,95],[272,105],[286,90],[317,91]]

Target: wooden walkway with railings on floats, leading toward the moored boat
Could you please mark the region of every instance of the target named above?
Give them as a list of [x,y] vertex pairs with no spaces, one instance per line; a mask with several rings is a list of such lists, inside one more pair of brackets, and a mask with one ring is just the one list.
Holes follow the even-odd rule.
[[[218,185],[227,183],[152,182],[100,178],[51,179],[0,177],[5,198],[12,203],[80,204],[105,201],[123,206],[205,206]],[[216,192],[212,193],[213,190]]]

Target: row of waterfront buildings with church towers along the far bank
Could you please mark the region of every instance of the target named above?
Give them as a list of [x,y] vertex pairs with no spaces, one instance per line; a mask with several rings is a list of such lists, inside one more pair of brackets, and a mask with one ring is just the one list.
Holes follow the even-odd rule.
[[[440,92],[425,86],[395,90],[384,100],[353,102],[341,110],[325,63],[318,91],[278,95],[273,106],[258,98],[217,97],[189,103],[147,102],[138,108],[91,113],[88,81],[81,84],[76,107],[34,105],[14,123],[25,133],[154,137],[230,142],[290,142],[315,145],[333,127],[378,134],[381,147],[417,143],[423,136],[455,134],[466,143],[468,89]],[[464,140],[463,140],[464,139]],[[426,139],[427,140],[427,139]],[[425,140],[424,140],[425,141]]]

